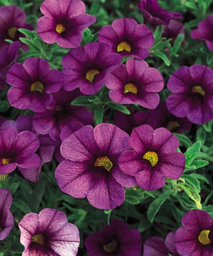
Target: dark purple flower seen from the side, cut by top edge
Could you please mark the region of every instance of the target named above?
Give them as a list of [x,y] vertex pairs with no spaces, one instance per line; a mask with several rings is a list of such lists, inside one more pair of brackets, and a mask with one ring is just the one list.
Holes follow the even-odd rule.
[[173,13],[160,8],[157,0],[140,0],[137,5],[143,14],[144,20],[153,26],[168,25],[172,19],[182,19],[181,13]]

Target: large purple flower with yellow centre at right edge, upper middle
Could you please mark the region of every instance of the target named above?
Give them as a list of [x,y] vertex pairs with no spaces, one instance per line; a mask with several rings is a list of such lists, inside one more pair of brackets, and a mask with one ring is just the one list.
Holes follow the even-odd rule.
[[166,103],[176,117],[202,125],[213,118],[213,70],[204,65],[180,67],[168,80]]

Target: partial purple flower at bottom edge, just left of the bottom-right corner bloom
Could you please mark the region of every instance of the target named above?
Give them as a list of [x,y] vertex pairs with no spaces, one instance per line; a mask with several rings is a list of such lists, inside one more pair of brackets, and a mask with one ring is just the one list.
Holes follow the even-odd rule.
[[175,248],[175,232],[169,232],[165,242],[157,236],[152,236],[145,241],[143,256],[168,256],[168,254],[179,256]]

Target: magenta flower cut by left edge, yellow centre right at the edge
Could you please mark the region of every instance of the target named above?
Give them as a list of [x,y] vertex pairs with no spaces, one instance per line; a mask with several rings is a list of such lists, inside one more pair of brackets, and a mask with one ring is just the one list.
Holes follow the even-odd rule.
[[17,133],[14,128],[0,130],[0,174],[13,172],[15,168],[37,168],[40,158],[38,138],[30,131]]

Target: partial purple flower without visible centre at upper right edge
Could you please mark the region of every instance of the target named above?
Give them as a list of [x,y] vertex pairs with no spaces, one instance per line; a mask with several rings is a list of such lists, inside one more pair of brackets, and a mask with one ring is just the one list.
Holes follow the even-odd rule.
[[198,24],[198,29],[194,29],[191,32],[191,37],[193,39],[199,39],[206,42],[208,49],[213,51],[213,15],[210,15],[206,20],[200,21]]

